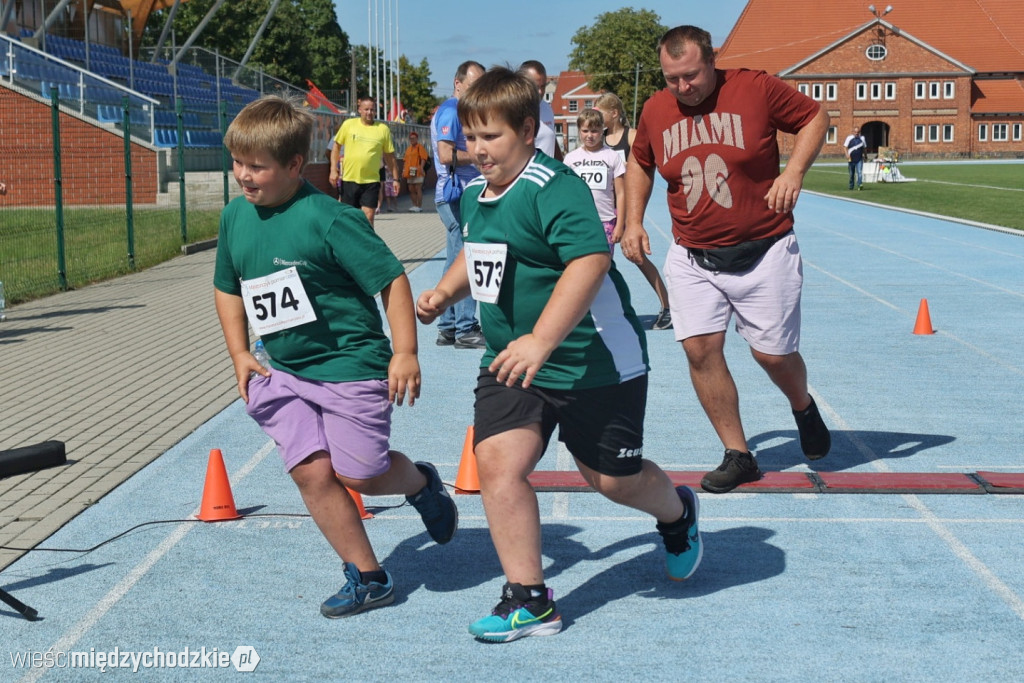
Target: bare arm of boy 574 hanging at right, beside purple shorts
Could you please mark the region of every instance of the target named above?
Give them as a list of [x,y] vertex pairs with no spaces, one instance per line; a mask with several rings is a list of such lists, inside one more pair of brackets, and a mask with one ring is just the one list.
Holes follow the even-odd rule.
[[420,361],[416,340],[416,315],[413,309],[413,289],[409,278],[401,273],[381,290],[384,313],[391,328],[393,353],[387,369],[388,400],[401,401],[409,393],[409,404],[420,397]]

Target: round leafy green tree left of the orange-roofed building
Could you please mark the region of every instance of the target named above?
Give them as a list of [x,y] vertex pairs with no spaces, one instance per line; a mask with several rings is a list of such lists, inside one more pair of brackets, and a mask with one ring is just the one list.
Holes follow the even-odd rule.
[[572,36],[575,47],[569,54],[569,69],[587,74],[592,90],[618,95],[627,117],[639,114],[644,100],[665,87],[657,40],[668,30],[648,9],[604,12],[593,26],[582,27]]

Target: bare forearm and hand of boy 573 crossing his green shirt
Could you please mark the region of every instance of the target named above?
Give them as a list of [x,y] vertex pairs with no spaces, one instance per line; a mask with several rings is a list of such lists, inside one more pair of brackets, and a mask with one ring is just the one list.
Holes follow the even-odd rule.
[[534,332],[510,342],[488,367],[498,374],[499,382],[512,386],[522,376],[522,386],[529,386],[551,352],[590,310],[610,264],[611,255],[603,252],[574,258],[565,265]]

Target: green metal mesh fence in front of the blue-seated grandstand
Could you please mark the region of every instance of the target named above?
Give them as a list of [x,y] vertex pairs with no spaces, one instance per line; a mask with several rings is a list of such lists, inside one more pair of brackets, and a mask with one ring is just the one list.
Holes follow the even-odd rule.
[[[11,62],[12,63],[12,62]],[[125,274],[216,237],[238,195],[222,146],[239,108],[138,93],[99,108],[0,75],[0,283],[7,304]],[[319,110],[310,163],[345,117]],[[389,124],[401,158],[408,133]],[[326,178],[326,166],[321,167]],[[307,173],[308,175],[308,173]]]

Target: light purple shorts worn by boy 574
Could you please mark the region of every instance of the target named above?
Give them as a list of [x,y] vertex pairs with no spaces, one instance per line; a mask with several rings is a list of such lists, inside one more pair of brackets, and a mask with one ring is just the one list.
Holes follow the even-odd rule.
[[278,444],[287,471],[326,451],[338,474],[371,479],[391,466],[387,391],[387,380],[318,382],[274,370],[249,381],[246,413]]

